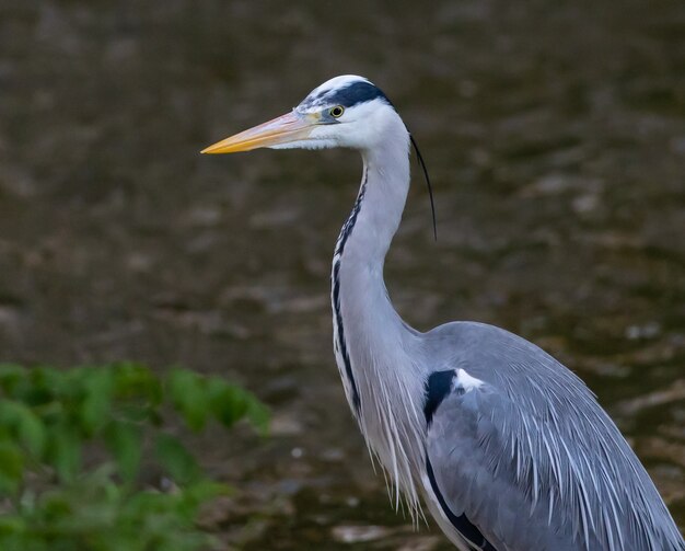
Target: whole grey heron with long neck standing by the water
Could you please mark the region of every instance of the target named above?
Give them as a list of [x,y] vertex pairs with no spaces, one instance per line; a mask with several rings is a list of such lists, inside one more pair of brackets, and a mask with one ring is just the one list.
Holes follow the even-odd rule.
[[383,264],[409,188],[410,140],[378,87],[341,76],[202,151],[361,153],[333,257],[334,351],[395,505],[404,495],[420,515],[422,497],[464,551],[685,550],[649,474],[569,369],[502,329],[461,321],[422,333],[395,311]]

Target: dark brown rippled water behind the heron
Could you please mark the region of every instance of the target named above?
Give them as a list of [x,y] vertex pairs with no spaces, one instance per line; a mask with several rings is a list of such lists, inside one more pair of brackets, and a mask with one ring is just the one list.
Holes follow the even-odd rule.
[[370,78],[428,163],[386,279],[578,372],[685,526],[685,3],[0,0],[0,360],[220,374],[272,435],[197,444],[227,548],[452,549],[395,515],[348,413],[328,275],[361,162],[200,157]]

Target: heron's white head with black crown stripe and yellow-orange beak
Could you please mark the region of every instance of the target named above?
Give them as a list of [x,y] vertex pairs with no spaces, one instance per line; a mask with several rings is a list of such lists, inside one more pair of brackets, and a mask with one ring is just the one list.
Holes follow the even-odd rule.
[[[385,94],[363,77],[330,79],[290,113],[225,138],[202,153],[234,153],[257,148],[369,149],[390,124],[402,124]],[[404,125],[403,125],[404,127]]]

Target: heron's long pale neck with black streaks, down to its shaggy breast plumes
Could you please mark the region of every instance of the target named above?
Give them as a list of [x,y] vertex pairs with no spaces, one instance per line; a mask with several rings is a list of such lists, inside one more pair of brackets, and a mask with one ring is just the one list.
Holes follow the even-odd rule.
[[[362,153],[357,202],[333,261],[334,344],[346,394],[370,448],[417,505],[411,464],[422,458],[418,333],[390,301],[383,264],[409,188],[408,134]],[[397,500],[399,493],[396,494]]]

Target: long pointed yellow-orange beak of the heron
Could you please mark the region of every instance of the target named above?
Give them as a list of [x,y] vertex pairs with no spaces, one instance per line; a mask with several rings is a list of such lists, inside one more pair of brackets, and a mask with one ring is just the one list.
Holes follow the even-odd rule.
[[310,136],[318,118],[300,115],[294,111],[225,138],[200,151],[201,153],[235,153],[260,147],[272,147],[304,140]]

